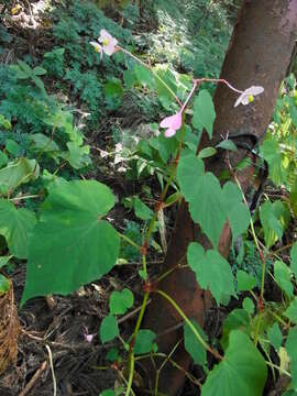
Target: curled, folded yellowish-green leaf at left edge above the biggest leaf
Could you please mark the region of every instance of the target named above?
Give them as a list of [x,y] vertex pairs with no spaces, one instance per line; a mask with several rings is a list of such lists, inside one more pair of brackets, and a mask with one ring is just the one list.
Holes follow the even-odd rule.
[[15,160],[0,169],[1,190],[12,193],[21,184],[35,179],[38,172],[40,167],[35,160]]

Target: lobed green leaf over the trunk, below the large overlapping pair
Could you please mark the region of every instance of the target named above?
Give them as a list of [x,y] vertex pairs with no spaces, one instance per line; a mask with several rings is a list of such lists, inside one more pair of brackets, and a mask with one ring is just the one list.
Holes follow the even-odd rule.
[[191,242],[187,258],[199,285],[204,289],[209,288],[218,304],[226,302],[230,296],[235,295],[231,267],[219,252],[215,250],[205,252],[199,243]]

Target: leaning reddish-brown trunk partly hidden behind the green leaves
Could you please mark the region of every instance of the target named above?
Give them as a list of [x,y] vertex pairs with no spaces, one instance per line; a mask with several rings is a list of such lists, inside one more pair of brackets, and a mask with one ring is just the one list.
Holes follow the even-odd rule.
[[[239,89],[253,85],[265,88],[264,94],[255,98],[250,106],[233,108],[237,94],[220,85],[216,91],[215,106],[217,119],[213,140],[228,131],[246,132],[263,138],[270,123],[275,106],[279,85],[289,65],[290,55],[296,40],[297,0],[245,0],[234,26],[233,35],[223,63],[221,78],[226,78]],[[209,145],[206,134],[201,147]],[[212,143],[213,144],[213,143]],[[246,153],[240,151],[231,160],[239,162]],[[227,167],[222,156],[211,160],[207,168],[215,174]],[[241,175],[243,190],[248,190],[253,169],[246,169]],[[194,180],[195,183],[195,180]],[[197,202],[199,205],[199,202]],[[207,238],[193,224],[187,205],[179,209],[172,242],[164,263],[164,272],[173,268],[178,262],[186,261],[187,246],[191,241],[198,241],[205,249],[209,248]],[[226,224],[220,240],[220,252],[227,256],[230,249],[231,231]],[[183,308],[186,315],[195,318],[204,326],[206,310],[212,305],[211,296],[199,287],[190,270],[175,270],[161,285],[161,289],[170,295]],[[162,297],[153,296],[147,309],[143,327],[161,334],[157,339],[160,351],[169,353],[183,337],[178,314]],[[172,331],[166,331],[172,329]],[[162,336],[164,333],[164,336]],[[173,359],[184,369],[188,369],[190,358],[184,348],[179,348]],[[144,364],[151,383],[154,383],[155,367]],[[166,395],[177,395],[184,384],[184,373],[166,364],[160,376],[158,389]]]

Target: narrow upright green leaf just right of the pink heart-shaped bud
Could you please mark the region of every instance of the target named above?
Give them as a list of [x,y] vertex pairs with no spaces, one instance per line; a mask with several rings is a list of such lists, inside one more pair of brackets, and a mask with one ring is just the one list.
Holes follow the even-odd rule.
[[207,130],[209,138],[212,138],[212,127],[216,119],[215,106],[210,94],[202,89],[194,101],[193,127],[202,131]]

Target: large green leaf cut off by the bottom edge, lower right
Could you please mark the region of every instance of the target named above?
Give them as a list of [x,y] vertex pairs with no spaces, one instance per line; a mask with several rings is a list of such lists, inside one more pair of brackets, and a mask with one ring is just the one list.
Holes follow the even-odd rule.
[[226,355],[208,375],[201,396],[262,396],[266,377],[261,353],[245,333],[233,330]]

